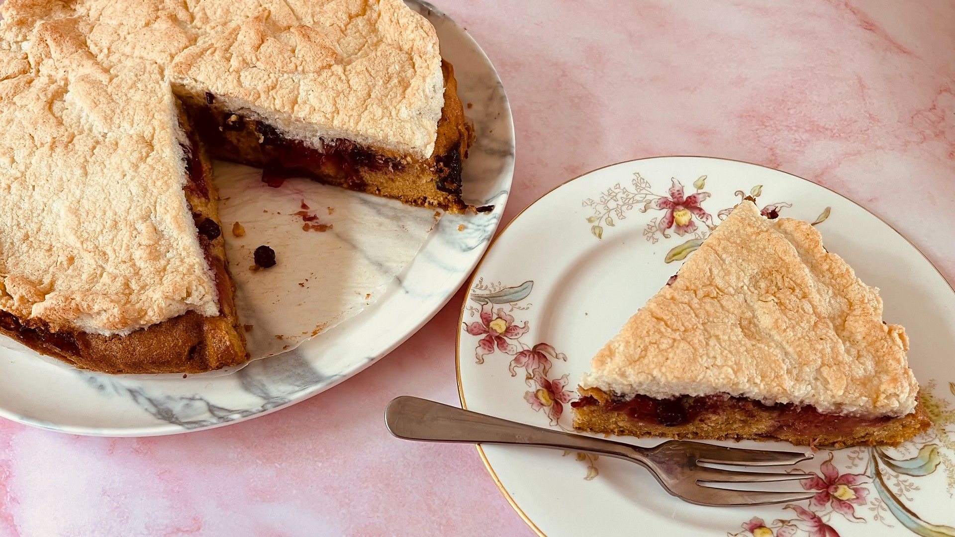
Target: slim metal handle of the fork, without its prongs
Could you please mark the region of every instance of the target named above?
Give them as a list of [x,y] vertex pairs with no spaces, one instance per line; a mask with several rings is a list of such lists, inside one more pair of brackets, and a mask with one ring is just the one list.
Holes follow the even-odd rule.
[[643,448],[494,418],[419,397],[401,396],[385,408],[385,423],[405,440],[502,443],[588,451],[637,460]]

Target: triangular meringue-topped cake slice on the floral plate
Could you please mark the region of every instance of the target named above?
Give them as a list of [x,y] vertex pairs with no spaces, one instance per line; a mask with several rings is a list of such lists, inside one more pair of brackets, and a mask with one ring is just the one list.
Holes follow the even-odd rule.
[[580,430],[898,444],[925,430],[901,326],[808,223],[738,204],[593,358]]

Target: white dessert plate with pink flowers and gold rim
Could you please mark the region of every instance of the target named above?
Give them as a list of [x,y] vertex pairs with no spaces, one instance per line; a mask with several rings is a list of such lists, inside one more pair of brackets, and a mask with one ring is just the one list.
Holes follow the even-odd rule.
[[909,362],[932,429],[899,448],[818,451],[794,470],[812,479],[781,485],[816,492],[791,505],[690,505],[627,462],[478,446],[501,492],[534,530],[552,537],[955,537],[955,291],[878,217],[774,169],[701,157],[628,161],[564,183],[525,209],[485,255],[465,297],[461,405],[571,430],[568,403],[590,357],[745,196],[765,216],[815,223],[825,246],[881,289],[885,319],[911,338]]

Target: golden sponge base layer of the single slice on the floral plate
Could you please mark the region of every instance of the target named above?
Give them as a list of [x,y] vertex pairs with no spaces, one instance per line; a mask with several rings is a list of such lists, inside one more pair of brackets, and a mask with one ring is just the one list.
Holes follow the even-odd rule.
[[666,426],[645,419],[633,419],[613,410],[613,397],[599,388],[579,388],[581,397],[593,397],[600,404],[574,408],[574,428],[579,431],[631,437],[662,437],[674,440],[760,440],[788,441],[841,449],[854,445],[899,445],[924,432],[931,425],[920,401],[915,411],[901,418],[858,420],[825,415],[829,421],[814,430],[779,427],[780,411],[756,401],[732,401],[719,412],[702,413],[680,425]]

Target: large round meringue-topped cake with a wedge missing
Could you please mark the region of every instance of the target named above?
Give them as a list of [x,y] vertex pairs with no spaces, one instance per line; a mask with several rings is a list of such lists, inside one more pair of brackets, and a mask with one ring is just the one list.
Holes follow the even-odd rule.
[[247,359],[209,157],[451,212],[471,141],[400,0],[8,0],[0,333],[107,373]]

